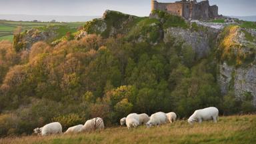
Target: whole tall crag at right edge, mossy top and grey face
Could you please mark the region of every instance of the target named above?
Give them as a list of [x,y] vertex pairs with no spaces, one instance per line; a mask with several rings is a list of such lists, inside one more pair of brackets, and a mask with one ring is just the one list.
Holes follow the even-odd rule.
[[[253,55],[256,39],[253,37],[254,33],[251,32],[253,30],[242,29],[241,27],[231,27],[230,29],[229,33],[222,37],[225,40],[222,43],[229,45],[229,47],[219,46],[219,49],[224,49],[224,51],[229,49],[230,52],[227,54],[223,52],[225,55],[231,55],[231,52],[233,52],[233,59],[228,59],[229,64],[225,59],[221,59],[222,61],[219,64],[218,81],[221,93],[225,95],[228,91],[234,91],[237,99],[243,99],[245,93],[249,93],[253,96],[253,104],[256,106],[256,57],[255,54]],[[227,30],[225,31],[227,32]],[[254,48],[251,49],[251,47]],[[222,57],[225,56],[223,53]],[[241,53],[243,53],[242,60],[239,56]],[[239,61],[239,63],[231,63],[232,61]]]

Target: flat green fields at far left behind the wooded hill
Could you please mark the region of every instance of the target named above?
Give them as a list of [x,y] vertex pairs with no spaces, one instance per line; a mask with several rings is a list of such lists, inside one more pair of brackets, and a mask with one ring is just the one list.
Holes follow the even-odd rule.
[[68,25],[69,27],[83,26],[85,22],[72,22],[72,23],[42,23],[42,22],[29,22],[29,21],[3,21],[0,20],[0,41],[9,40],[13,41],[13,32],[17,27],[21,27],[23,31],[33,27],[43,27],[47,25]]

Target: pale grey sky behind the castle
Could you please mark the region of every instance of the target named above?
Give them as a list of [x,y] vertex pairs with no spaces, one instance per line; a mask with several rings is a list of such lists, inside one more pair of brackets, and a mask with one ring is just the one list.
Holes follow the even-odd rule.
[[[159,0],[173,2],[177,0]],[[199,0],[197,0],[199,1]],[[256,0],[209,0],[219,6],[219,14],[256,15]],[[148,16],[151,0],[0,0],[0,14],[24,15],[102,15],[106,9]]]

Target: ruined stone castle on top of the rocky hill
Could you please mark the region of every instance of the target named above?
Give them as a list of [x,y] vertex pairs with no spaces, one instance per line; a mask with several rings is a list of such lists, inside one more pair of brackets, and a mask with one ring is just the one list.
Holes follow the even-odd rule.
[[151,0],[151,11],[161,10],[185,19],[214,19],[218,17],[217,5],[210,6],[208,0],[197,3],[196,0],[182,0],[175,3],[158,3]]

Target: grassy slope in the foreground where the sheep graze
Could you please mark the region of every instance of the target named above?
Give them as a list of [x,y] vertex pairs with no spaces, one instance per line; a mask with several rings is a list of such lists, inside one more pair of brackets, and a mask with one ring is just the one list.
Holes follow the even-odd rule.
[[256,115],[220,117],[218,123],[189,125],[187,121],[147,129],[107,128],[94,133],[49,137],[13,137],[0,143],[255,143]]

